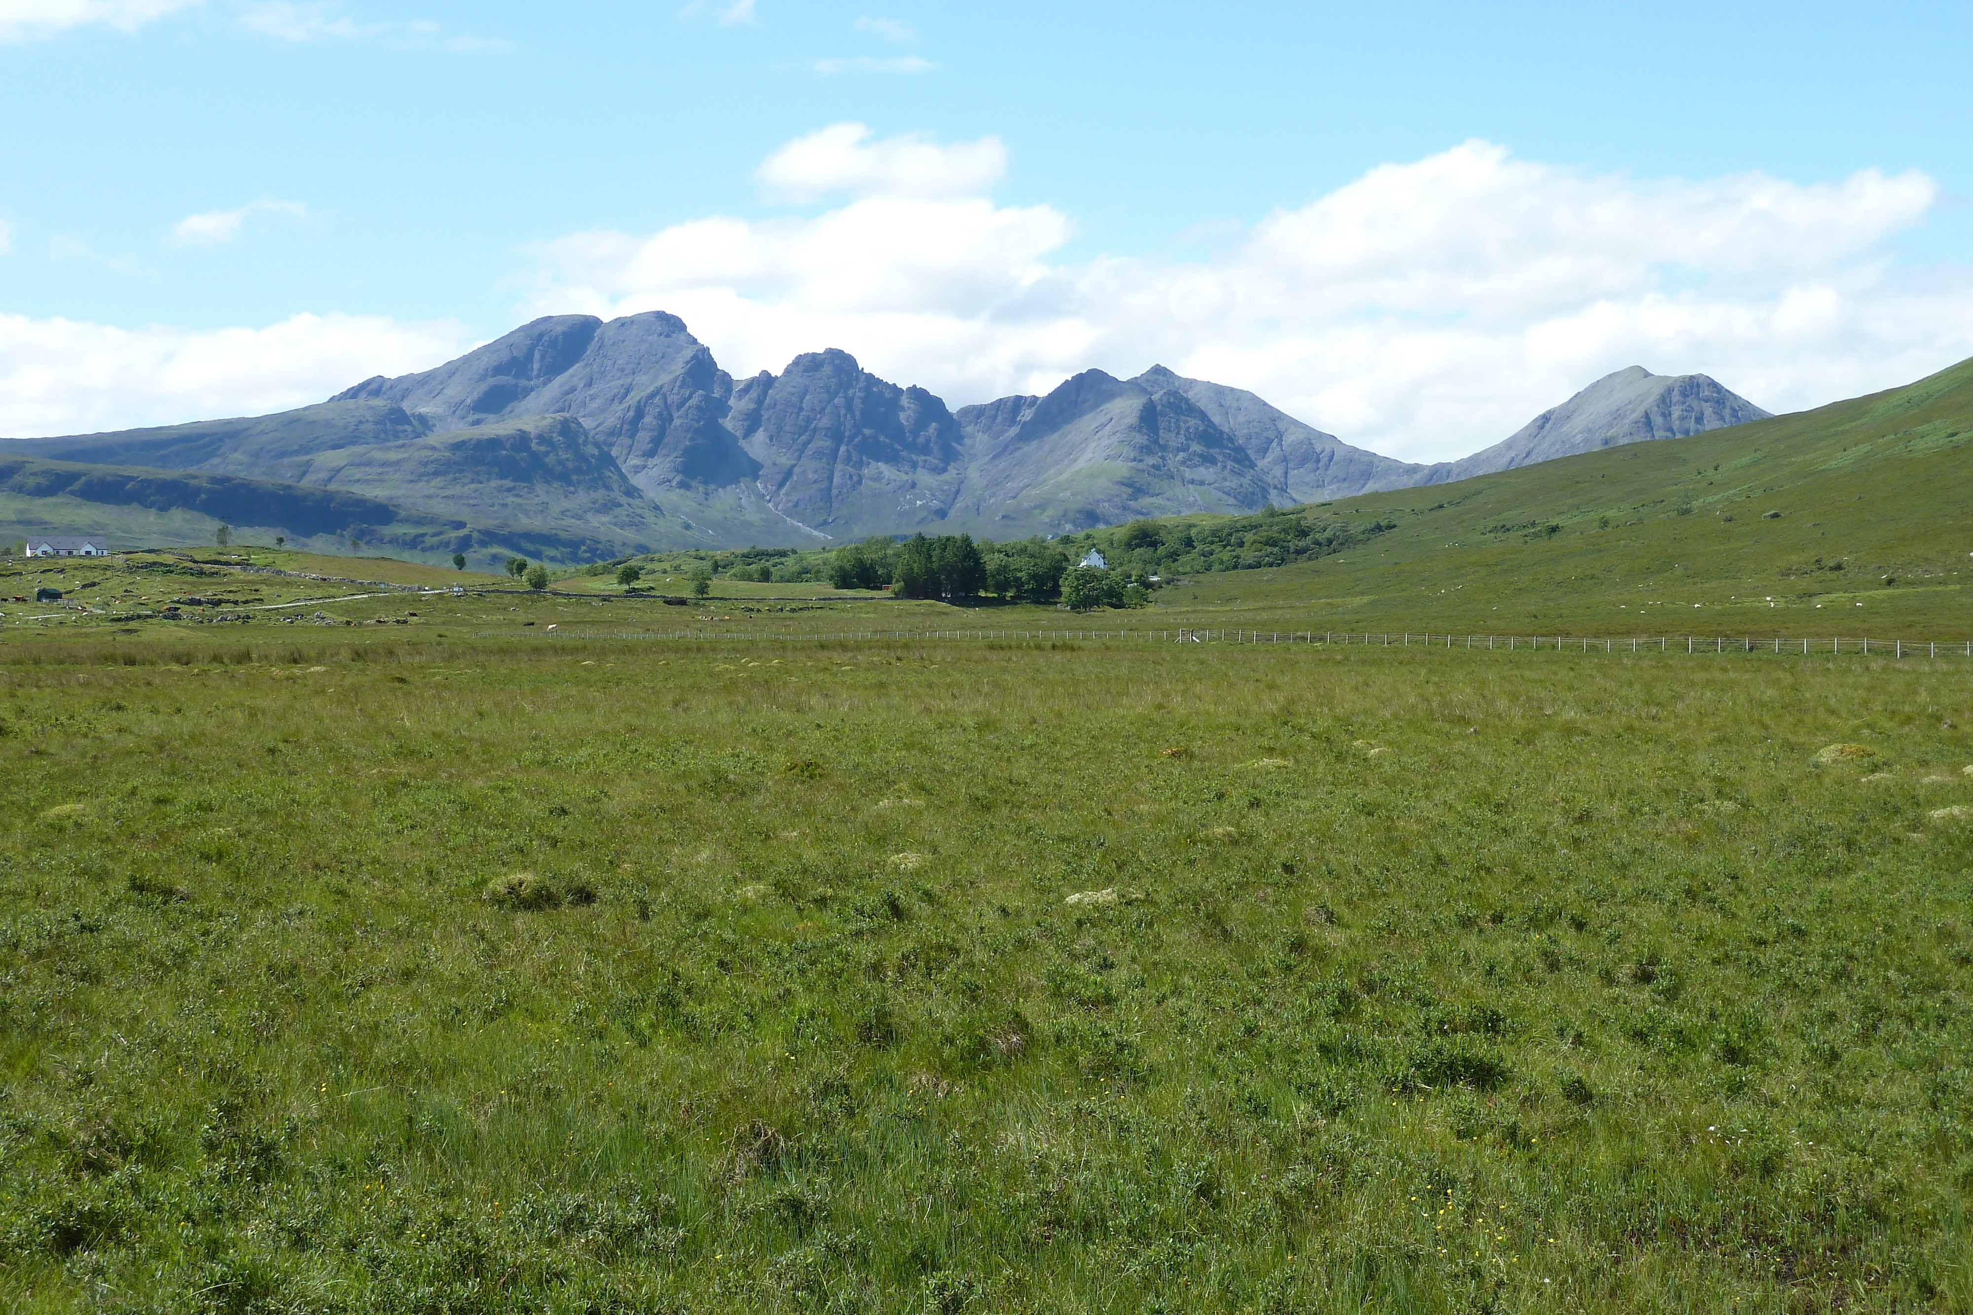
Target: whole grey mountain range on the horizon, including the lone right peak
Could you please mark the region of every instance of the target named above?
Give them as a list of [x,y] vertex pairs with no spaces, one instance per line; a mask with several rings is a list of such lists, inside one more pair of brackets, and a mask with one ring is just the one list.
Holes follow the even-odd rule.
[[[1432,485],[1766,414],[1705,375],[1634,367],[1494,448],[1415,465],[1164,367],[1083,371],[1046,396],[951,410],[844,351],[734,379],[675,315],[550,315],[438,369],[274,416],[10,442],[0,520],[45,530],[32,513],[87,515],[24,509],[34,487],[87,503],[114,485],[116,505],[154,513],[215,505],[211,479],[178,487],[176,471],[249,481],[227,503],[245,530],[306,538],[339,524],[339,536],[424,556],[1020,538]],[[41,463],[122,473],[91,483],[30,469]],[[251,483],[282,493],[255,511]]]

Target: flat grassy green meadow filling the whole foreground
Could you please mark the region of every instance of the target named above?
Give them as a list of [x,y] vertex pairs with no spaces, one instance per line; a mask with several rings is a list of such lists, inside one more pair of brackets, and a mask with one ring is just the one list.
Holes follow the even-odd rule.
[[1973,1309],[1963,657],[428,625],[0,649],[8,1309]]

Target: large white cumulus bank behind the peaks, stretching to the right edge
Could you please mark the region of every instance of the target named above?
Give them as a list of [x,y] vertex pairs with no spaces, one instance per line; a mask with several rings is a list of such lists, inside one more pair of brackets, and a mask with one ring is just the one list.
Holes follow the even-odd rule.
[[844,347],[955,406],[1164,363],[1409,459],[1498,442],[1628,365],[1793,410],[1973,355],[1973,268],[1890,250],[1939,201],[1918,172],[1634,179],[1466,142],[1211,260],[1067,262],[1065,215],[986,197],[1004,168],[996,138],[835,124],[760,179],[840,207],[547,242],[533,310],[671,310],[736,373]]

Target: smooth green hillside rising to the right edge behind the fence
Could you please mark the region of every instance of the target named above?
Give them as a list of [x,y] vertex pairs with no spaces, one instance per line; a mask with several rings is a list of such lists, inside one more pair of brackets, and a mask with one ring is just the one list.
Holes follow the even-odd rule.
[[1061,542],[1178,578],[1160,607],[1227,625],[1943,637],[1973,631],[1969,489],[1963,361],[1693,438]]

